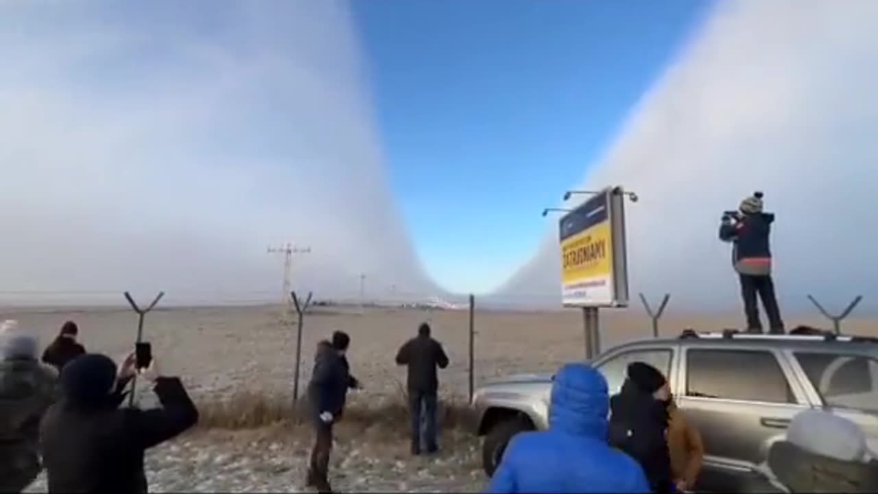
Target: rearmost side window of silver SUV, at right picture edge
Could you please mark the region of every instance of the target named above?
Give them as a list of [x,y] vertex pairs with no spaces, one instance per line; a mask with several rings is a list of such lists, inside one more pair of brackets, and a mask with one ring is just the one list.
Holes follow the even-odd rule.
[[817,352],[795,352],[795,359],[824,404],[878,410],[878,361],[863,355]]

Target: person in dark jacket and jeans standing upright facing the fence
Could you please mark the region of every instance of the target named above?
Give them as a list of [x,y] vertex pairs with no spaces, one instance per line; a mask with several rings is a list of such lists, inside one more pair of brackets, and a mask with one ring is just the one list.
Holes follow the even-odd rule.
[[[396,363],[408,367],[407,392],[408,408],[412,420],[412,454],[421,454],[421,418],[426,427],[424,440],[427,453],[432,454],[436,446],[436,404],[438,402],[439,379],[436,367],[448,367],[448,355],[442,345],[430,337],[430,326],[421,323],[418,336],[408,340],[399,348]],[[423,416],[423,417],[422,417]]]

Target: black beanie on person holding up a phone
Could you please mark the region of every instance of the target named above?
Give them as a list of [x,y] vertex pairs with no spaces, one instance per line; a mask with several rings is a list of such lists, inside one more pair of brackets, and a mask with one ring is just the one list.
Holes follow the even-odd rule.
[[104,403],[116,384],[116,362],[100,353],[76,357],[61,370],[61,390],[76,403]]

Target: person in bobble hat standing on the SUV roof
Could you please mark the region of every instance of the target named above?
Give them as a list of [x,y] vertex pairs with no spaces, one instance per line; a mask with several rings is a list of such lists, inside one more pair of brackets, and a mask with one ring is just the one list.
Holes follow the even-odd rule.
[[762,299],[762,306],[768,316],[768,327],[772,333],[783,333],[781,309],[774,294],[774,280],[771,276],[772,255],[769,242],[774,214],[762,212],[762,193],[755,193],[741,201],[740,213],[723,214],[719,227],[719,238],[734,244],[731,262],[738,272],[741,283],[741,298],[747,317],[747,330],[762,332],[759,321],[759,306],[756,296]]

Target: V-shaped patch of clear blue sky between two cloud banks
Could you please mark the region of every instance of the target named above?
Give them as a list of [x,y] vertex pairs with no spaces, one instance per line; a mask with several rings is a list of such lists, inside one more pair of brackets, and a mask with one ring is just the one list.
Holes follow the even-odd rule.
[[428,273],[507,279],[712,3],[353,2],[392,189]]

